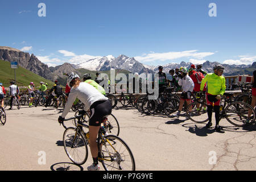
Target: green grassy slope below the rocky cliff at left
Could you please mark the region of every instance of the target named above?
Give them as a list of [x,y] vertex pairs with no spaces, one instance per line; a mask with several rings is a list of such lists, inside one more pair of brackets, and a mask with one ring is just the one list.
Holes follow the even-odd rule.
[[[30,82],[34,82],[35,86],[40,86],[39,82],[47,82],[48,87],[51,88],[54,82],[47,80],[35,73],[28,71],[25,68],[19,67],[15,70],[16,72],[16,85],[18,86],[28,86]],[[10,62],[0,60],[0,82],[3,86],[8,88],[10,86],[10,81],[14,80],[14,69],[11,68]]]

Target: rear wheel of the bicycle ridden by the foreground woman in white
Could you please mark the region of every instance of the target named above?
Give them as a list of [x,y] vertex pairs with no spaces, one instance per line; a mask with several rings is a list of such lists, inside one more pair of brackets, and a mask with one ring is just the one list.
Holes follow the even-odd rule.
[[115,135],[106,136],[100,144],[100,161],[106,171],[135,171],[135,160],[129,146]]

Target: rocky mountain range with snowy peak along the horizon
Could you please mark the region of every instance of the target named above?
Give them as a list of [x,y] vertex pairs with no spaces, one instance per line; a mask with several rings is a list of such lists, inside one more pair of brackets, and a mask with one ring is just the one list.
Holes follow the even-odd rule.
[[[19,65],[23,68],[26,68],[39,76],[42,76],[48,80],[56,80],[60,79],[63,82],[67,79],[63,73],[76,72],[79,68],[88,69],[91,71],[103,72],[109,71],[110,69],[120,69],[126,70],[131,73],[157,73],[158,66],[146,65],[142,64],[139,61],[135,60],[134,57],[128,57],[126,55],[119,55],[118,57],[114,57],[112,55],[97,57],[90,60],[85,60],[81,64],[70,64],[64,63],[61,65],[57,65],[56,67],[48,67],[47,64],[42,63],[34,54],[20,51],[11,47],[1,47],[0,46],[0,59],[5,61],[11,61],[13,57],[19,58]],[[213,72],[212,68],[214,64],[220,64],[216,61],[210,62],[205,61],[203,65],[203,69],[206,72]],[[163,66],[163,72],[166,72],[167,75],[170,69],[186,67],[190,68],[192,63],[185,61],[181,61],[180,63],[168,63]],[[225,67],[224,76],[231,75],[248,75],[252,74],[253,69],[256,67],[256,62],[252,65],[228,65],[222,64]]]

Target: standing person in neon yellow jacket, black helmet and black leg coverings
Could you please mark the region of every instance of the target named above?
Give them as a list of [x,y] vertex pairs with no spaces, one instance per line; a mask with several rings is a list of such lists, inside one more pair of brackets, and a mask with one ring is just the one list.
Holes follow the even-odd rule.
[[218,125],[218,123],[220,122],[220,100],[221,96],[223,96],[226,90],[226,80],[225,77],[222,76],[222,73],[224,71],[224,67],[222,65],[214,65],[213,71],[214,73],[208,73],[203,78],[203,80],[201,81],[200,90],[203,91],[204,85],[207,82],[207,113],[209,118],[207,127],[209,128],[210,126],[212,126],[212,109],[214,109],[216,120],[215,130],[220,131],[220,126]]

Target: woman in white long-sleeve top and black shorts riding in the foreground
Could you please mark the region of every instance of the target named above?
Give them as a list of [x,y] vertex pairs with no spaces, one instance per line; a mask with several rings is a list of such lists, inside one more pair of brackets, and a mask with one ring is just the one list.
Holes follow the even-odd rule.
[[67,83],[71,87],[71,91],[68,96],[68,102],[58,121],[63,122],[76,98],[85,105],[84,110],[90,110],[90,113],[92,114],[89,119],[89,140],[93,164],[87,169],[88,171],[98,171],[100,165],[98,164],[98,147],[96,139],[98,131],[100,130],[101,121],[106,115],[111,114],[112,105],[108,98],[98,92],[92,85],[86,82],[80,82],[80,77],[76,74],[69,75]]

